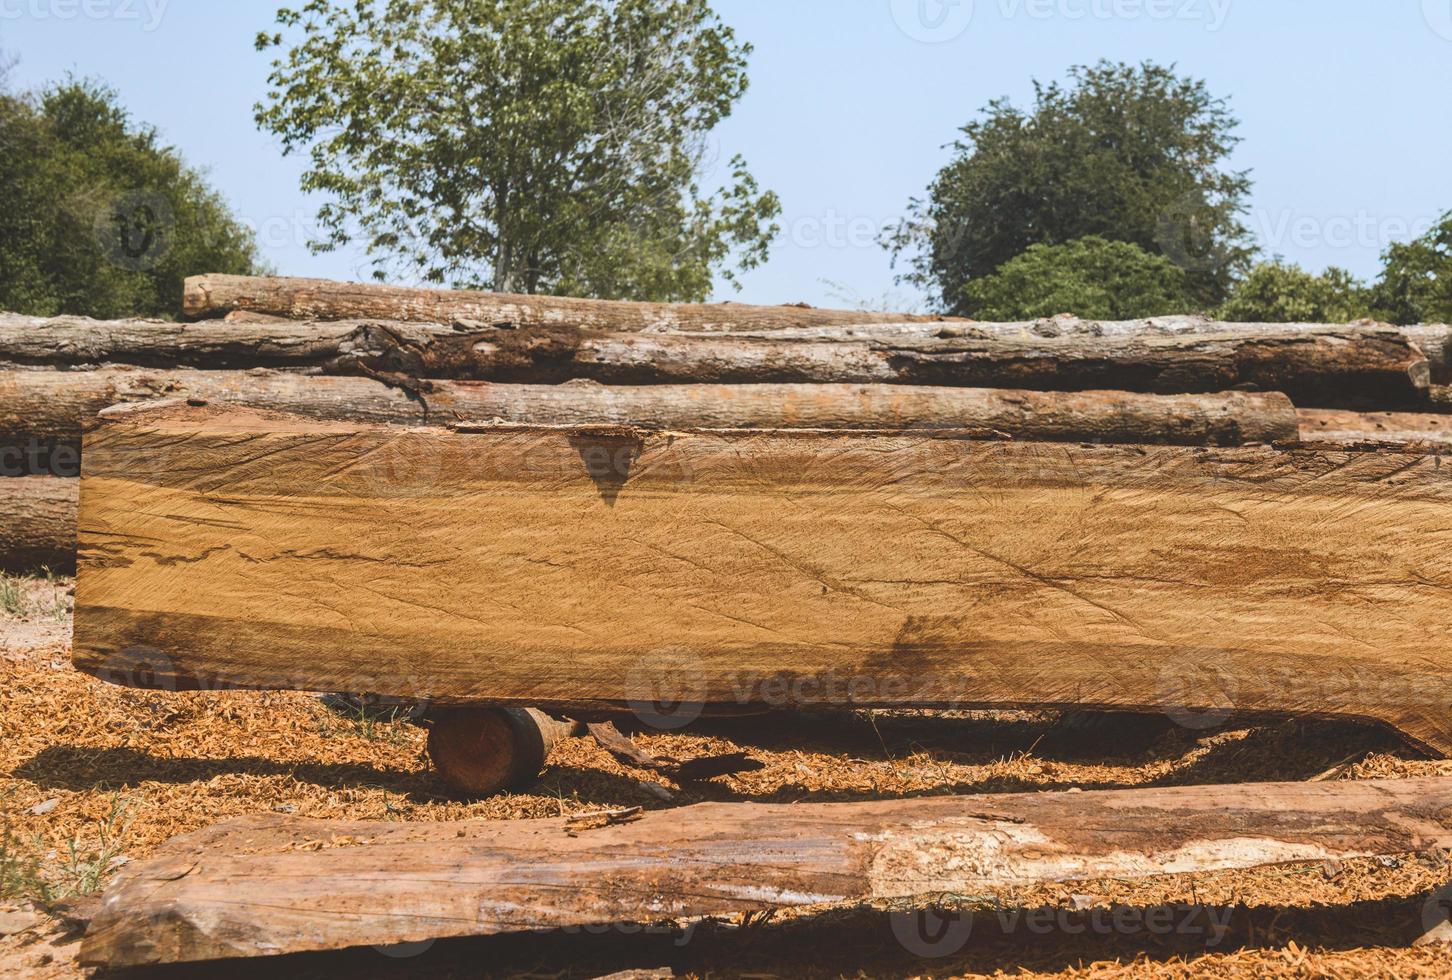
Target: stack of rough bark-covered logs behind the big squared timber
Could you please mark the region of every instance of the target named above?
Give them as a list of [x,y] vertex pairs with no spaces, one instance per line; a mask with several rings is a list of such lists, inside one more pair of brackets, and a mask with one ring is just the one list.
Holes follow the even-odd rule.
[[[74,476],[86,420],[170,399],[318,421],[955,430],[1176,446],[1452,444],[1452,330],[1201,317],[982,324],[200,276],[196,322],[0,314],[0,473]],[[1423,409],[1423,411],[1419,411]],[[19,485],[16,485],[19,486]],[[57,562],[74,494],[0,498],[0,556]],[[70,510],[68,510],[70,508]],[[38,523],[39,521],[39,523]]]

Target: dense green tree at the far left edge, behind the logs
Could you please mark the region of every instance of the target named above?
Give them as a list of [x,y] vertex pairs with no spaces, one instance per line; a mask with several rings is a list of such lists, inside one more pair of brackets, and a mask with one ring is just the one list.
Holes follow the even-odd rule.
[[253,234],[115,91],[0,91],[0,308],[174,317],[202,271],[257,271]]

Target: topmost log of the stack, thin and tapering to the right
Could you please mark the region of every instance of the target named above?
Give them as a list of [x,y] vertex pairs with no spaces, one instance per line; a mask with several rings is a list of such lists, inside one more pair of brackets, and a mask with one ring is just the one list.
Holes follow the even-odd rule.
[[325,279],[193,276],[186,280],[182,311],[187,317],[219,317],[232,311],[292,319],[380,318],[430,324],[456,319],[481,324],[572,324],[600,330],[772,330],[939,321],[852,309],[813,309],[804,305],[748,306],[742,303],[640,303],[568,296],[524,296],[472,290],[409,289]]

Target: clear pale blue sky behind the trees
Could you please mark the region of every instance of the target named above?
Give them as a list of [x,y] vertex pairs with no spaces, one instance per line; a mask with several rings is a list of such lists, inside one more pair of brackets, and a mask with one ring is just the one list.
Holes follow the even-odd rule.
[[[354,277],[305,247],[317,202],[256,131],[273,0],[0,0],[12,84],[67,71],[118,89],[258,228],[282,273]],[[751,91],[719,128],[781,195],[783,238],[748,302],[896,292],[874,229],[921,195],[957,128],[1031,78],[1098,58],[1178,62],[1231,100],[1269,253],[1374,276],[1388,241],[1452,209],[1452,0],[717,0],[755,45]]]

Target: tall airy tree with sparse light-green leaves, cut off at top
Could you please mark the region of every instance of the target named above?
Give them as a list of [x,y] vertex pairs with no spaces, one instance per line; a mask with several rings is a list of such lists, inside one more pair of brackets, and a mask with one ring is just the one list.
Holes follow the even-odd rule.
[[745,163],[700,187],[751,52],[707,0],[309,0],[277,22],[301,39],[257,122],[331,196],[318,250],[357,237],[378,277],[659,301],[767,256],[780,203]]

